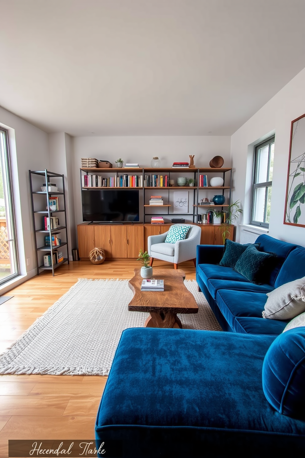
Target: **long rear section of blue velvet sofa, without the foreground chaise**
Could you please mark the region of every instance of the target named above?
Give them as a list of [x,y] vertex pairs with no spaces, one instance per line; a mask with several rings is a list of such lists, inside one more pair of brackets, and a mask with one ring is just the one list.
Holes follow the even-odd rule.
[[233,268],[219,266],[223,245],[197,245],[196,280],[224,331],[277,336],[287,321],[262,318],[267,293],[305,277],[305,248],[265,234],[255,243],[260,243],[259,251],[278,256],[263,284],[251,283]]

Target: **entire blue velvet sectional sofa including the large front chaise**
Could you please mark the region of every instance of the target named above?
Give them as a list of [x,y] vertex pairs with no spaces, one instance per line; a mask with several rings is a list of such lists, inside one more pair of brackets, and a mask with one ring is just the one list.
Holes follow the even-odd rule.
[[261,316],[266,291],[305,275],[305,249],[259,239],[281,258],[263,285],[220,271],[223,247],[198,247],[200,288],[235,332],[123,331],[96,418],[106,456],[304,456],[305,327],[281,333]]

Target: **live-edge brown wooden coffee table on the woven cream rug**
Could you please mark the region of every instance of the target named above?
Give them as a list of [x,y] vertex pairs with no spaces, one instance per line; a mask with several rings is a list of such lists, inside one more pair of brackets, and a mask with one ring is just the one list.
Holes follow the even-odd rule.
[[134,269],[129,288],[134,297],[128,304],[129,311],[150,312],[144,327],[180,327],[177,313],[197,313],[198,305],[184,286],[183,270],[154,269],[153,278],[164,280],[164,291],[141,291],[143,278],[140,269]]

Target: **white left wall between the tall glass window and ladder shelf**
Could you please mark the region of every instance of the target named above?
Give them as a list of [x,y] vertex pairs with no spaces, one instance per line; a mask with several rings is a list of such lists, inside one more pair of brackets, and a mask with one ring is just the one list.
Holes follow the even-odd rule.
[[[48,134],[1,107],[0,124],[9,131],[20,273],[29,278],[36,274],[36,254],[28,171],[49,168]],[[30,258],[29,266],[26,258]],[[12,284],[1,292],[10,288]]]

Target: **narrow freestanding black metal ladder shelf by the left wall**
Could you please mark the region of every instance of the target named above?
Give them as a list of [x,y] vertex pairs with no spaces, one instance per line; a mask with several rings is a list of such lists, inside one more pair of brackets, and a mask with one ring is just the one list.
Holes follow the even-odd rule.
[[[33,176],[41,176],[43,180],[41,181],[40,184],[38,184],[39,180],[35,180],[34,187],[35,188],[40,188],[40,186],[43,185],[43,183],[46,183],[46,191],[33,191]],[[69,246],[68,246],[68,230],[67,230],[67,215],[66,215],[66,199],[65,199],[65,193],[64,193],[64,175],[57,174],[54,172],[50,172],[49,170],[29,170],[29,176],[30,176],[30,188],[31,188],[31,201],[32,201],[32,218],[33,218],[33,229],[34,229],[34,241],[35,241],[35,252],[36,252],[36,265],[37,265],[37,275],[39,275],[41,270],[52,270],[52,274],[54,276],[54,271],[57,267],[61,266],[64,264],[64,262],[68,262],[69,264]],[[57,192],[52,192],[48,191],[48,182],[52,180],[58,180],[59,182],[59,189],[62,189],[62,191],[57,191]],[[56,181],[56,184],[57,181]],[[39,199],[35,198],[36,196],[43,196],[39,197]],[[64,207],[64,209],[61,210],[50,210],[49,207],[49,199],[52,198],[52,196],[62,196],[62,199],[60,199],[60,207]],[[39,210],[37,210],[39,208]],[[45,210],[43,210],[45,208]],[[44,229],[43,224],[42,224],[42,216],[45,215],[49,218],[49,221],[51,216],[54,216],[56,213],[64,213],[64,226],[59,226],[56,229],[51,229],[51,224],[49,224],[49,229],[46,230]],[[40,219],[38,220],[37,215],[40,215]],[[56,232],[61,232],[64,231],[65,233],[65,242],[61,242],[60,245],[52,245],[52,234]],[[42,245],[39,246],[37,245],[37,238],[39,240],[39,234],[49,234],[50,237],[50,245]],[[41,239],[41,237],[40,237]],[[44,243],[44,239],[43,239]],[[63,261],[54,264],[53,262],[53,253],[54,251],[59,250],[60,248],[65,247],[67,253],[66,257],[64,257]],[[51,266],[44,266],[44,264],[40,264],[40,257],[39,254],[41,253],[43,255],[43,252],[49,251],[51,253],[51,261],[52,265]]]

